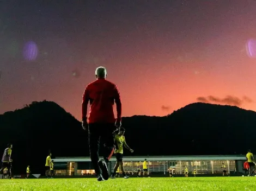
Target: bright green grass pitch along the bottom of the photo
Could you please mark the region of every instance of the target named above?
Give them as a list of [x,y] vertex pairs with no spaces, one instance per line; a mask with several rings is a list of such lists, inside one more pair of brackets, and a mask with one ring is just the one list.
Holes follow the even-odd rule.
[[173,177],[110,179],[0,180],[1,191],[41,190],[256,190],[256,177]]

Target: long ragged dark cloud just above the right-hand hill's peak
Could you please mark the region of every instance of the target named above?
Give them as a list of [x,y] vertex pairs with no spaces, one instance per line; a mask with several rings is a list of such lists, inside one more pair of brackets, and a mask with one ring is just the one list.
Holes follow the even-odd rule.
[[197,100],[203,103],[227,104],[227,105],[235,105],[235,106],[241,106],[243,103],[253,102],[253,100],[247,96],[238,98],[232,95],[227,95],[225,98],[218,98],[216,96],[209,95],[208,97],[198,97]]

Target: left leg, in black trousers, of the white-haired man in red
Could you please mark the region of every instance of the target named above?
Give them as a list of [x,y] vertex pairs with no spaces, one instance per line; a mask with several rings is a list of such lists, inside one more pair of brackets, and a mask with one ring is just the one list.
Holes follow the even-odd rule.
[[98,164],[99,145],[100,145],[99,124],[89,124],[90,159],[92,161],[95,174],[97,175],[98,180],[101,181],[102,180],[101,171]]

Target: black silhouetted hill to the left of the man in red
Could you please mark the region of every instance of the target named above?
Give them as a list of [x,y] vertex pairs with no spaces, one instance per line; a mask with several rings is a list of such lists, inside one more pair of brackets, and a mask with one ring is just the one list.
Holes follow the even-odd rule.
[[88,135],[81,123],[51,101],[34,101],[23,109],[5,112],[0,115],[0,128],[0,152],[13,143],[14,171],[26,173],[31,165],[33,173],[43,173],[49,150],[53,157],[89,155]]

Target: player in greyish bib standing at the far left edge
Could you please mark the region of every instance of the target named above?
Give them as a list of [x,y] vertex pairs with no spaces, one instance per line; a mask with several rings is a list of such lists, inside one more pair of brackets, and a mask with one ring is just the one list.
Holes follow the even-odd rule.
[[13,160],[11,159],[11,149],[13,149],[13,144],[8,144],[7,148],[4,150],[4,154],[2,157],[2,168],[0,170],[0,174],[3,174],[3,170],[5,168],[9,171],[9,178],[11,179],[11,162]]

